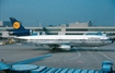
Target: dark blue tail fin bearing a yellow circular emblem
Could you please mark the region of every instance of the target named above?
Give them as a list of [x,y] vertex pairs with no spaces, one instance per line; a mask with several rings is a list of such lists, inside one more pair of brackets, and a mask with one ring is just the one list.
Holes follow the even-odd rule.
[[10,17],[10,21],[12,23],[12,26],[14,29],[25,29],[19,21],[16,21],[14,17]]

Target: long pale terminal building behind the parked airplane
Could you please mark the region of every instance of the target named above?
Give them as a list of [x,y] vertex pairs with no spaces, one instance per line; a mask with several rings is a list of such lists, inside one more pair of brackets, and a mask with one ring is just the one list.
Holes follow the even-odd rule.
[[[11,22],[4,21],[0,22],[0,33],[7,32],[7,29],[12,29]],[[69,24],[61,24],[59,26],[49,25],[46,27],[25,27],[26,29],[32,29],[37,33],[45,33],[46,35],[82,35],[85,33],[97,33],[102,32],[107,34],[110,37],[115,38],[115,26],[93,26],[89,22],[74,22]]]

